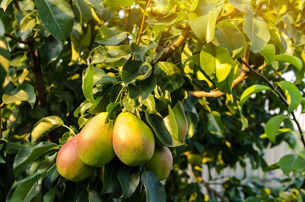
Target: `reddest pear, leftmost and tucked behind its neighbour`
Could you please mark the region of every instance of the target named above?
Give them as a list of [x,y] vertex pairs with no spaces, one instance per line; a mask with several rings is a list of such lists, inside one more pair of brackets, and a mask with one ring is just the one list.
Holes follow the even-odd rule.
[[77,152],[78,135],[71,138],[58,151],[56,158],[59,175],[72,182],[80,182],[88,178],[95,167],[85,164]]

